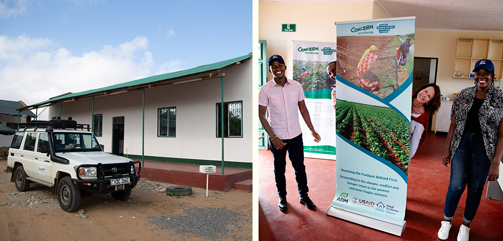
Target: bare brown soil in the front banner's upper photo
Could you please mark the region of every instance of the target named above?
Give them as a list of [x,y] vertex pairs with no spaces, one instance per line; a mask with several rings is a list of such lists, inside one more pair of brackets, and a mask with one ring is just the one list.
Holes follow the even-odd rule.
[[[395,40],[395,36],[385,36],[385,37],[340,37],[337,39],[337,74],[344,79],[356,84],[358,86],[358,78],[356,77],[356,71],[358,63],[362,58],[363,53],[371,45],[375,45],[378,50],[375,52],[378,56],[385,55],[396,55],[397,47],[392,47],[392,42]],[[393,92],[393,87],[396,85],[396,74],[398,74],[398,86],[401,85],[410,73],[407,72],[397,72],[395,73],[395,66],[393,63],[394,58],[385,58],[377,60],[371,67],[371,71],[374,72],[378,69],[391,69],[387,73],[393,81],[389,83],[383,83],[385,76],[378,77],[381,81],[381,89],[375,94],[380,98],[384,98]],[[389,67],[389,68],[386,68]]]

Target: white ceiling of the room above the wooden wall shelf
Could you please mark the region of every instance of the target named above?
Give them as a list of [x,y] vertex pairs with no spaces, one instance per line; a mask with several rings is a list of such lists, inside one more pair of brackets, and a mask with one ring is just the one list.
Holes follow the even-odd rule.
[[375,0],[392,18],[416,16],[415,28],[503,33],[503,0]]

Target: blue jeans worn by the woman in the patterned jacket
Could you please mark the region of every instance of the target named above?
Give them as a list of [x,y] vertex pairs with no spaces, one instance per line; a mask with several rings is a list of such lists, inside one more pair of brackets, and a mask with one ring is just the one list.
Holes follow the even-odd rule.
[[444,218],[451,220],[461,194],[468,187],[463,221],[470,223],[475,217],[491,163],[485,152],[482,135],[465,133],[451,159],[451,178],[445,197]]

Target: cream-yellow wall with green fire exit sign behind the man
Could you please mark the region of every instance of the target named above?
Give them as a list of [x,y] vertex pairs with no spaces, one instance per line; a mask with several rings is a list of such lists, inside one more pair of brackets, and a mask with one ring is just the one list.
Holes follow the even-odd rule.
[[[268,57],[279,54],[290,67],[293,40],[336,42],[334,22],[372,19],[373,5],[373,2],[259,2],[259,39],[267,41]],[[281,24],[297,24],[297,32],[283,33]],[[271,79],[271,73],[267,74]],[[292,78],[290,73],[287,77]]]

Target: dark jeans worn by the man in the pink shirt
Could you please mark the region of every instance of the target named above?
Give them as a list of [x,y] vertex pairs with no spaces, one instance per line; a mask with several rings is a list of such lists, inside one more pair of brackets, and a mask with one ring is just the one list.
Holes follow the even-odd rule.
[[286,143],[283,149],[276,149],[271,138],[269,138],[269,146],[274,157],[274,178],[276,180],[276,188],[280,196],[286,196],[286,152],[292,162],[295,170],[295,179],[299,188],[300,197],[307,197],[309,188],[307,187],[306,167],[304,166],[304,143],[302,142],[302,134],[292,139],[282,140]]

